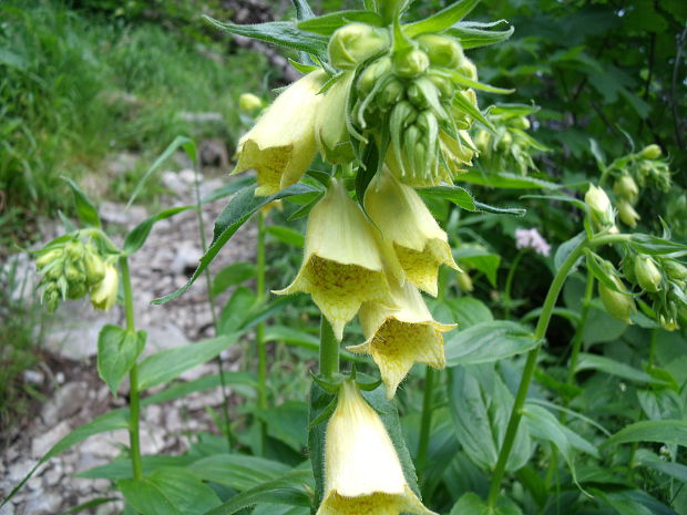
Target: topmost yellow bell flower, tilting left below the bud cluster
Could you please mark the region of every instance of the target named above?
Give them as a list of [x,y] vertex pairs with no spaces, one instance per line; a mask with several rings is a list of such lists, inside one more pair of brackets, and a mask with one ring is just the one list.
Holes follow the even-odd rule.
[[315,113],[326,78],[317,70],[288,86],[238,142],[232,175],[255,168],[256,195],[273,195],[297,183],[315,158]]

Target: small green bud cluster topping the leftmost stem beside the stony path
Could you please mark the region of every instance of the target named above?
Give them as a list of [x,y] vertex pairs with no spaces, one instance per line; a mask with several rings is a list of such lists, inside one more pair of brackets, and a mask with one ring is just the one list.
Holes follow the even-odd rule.
[[50,245],[39,254],[35,265],[42,276],[42,301],[54,311],[60,300],[91,295],[91,303],[107,310],[116,301],[119,275],[91,243],[72,239]]

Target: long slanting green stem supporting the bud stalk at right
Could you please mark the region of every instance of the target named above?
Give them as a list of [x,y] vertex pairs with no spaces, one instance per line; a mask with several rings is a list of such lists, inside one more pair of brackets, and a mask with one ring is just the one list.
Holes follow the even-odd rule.
[[496,461],[496,466],[494,468],[494,474],[492,476],[491,485],[489,488],[489,496],[486,498],[486,503],[490,507],[495,506],[496,499],[499,497],[501,481],[503,480],[503,474],[505,473],[505,465],[507,463],[511,451],[513,450],[513,444],[515,443],[515,434],[517,432],[517,426],[520,425],[520,420],[522,419],[522,408],[525,404],[527,390],[530,389],[530,383],[532,382],[532,377],[534,375],[534,369],[536,368],[536,357],[542,346],[544,336],[546,334],[546,329],[548,328],[548,322],[551,321],[553,308],[556,305],[558,293],[563,288],[563,284],[565,282],[567,274],[571,271],[580,256],[582,256],[582,253],[587,244],[587,240],[582,240],[567,256],[565,261],[563,261],[563,264],[561,265],[561,268],[556,272],[555,277],[553,278],[553,282],[551,284],[548,292],[546,293],[546,299],[544,300],[544,306],[542,307],[542,313],[540,315],[540,319],[536,323],[536,329],[534,330],[534,339],[537,341],[537,344],[527,354],[527,361],[525,362],[525,367],[522,372],[522,379],[520,380],[520,385],[517,387],[517,393],[515,394],[515,401],[513,402],[513,409],[511,411],[509,424],[505,430],[505,436],[503,437],[503,445],[501,446],[501,451],[499,452],[499,460]]

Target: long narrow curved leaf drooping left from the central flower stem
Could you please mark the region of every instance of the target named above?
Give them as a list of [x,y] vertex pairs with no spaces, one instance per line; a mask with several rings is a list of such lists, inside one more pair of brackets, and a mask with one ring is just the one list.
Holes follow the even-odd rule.
[[229,202],[229,204],[224,208],[217,220],[215,222],[215,230],[213,234],[213,241],[209,245],[209,248],[205,253],[205,255],[201,258],[201,262],[198,264],[198,268],[193,274],[188,282],[186,282],[178,290],[173,293],[166,295],[158,299],[153,300],[153,303],[161,305],[168,302],[170,300],[176,299],[180,295],[186,291],[191,285],[195,282],[198,276],[205,270],[205,268],[212,262],[212,260],[217,256],[217,253],[224,247],[224,245],[229,240],[232,236],[238,230],[238,228],[244,225],[244,223],[250,218],[250,216],[256,213],[259,208],[266,206],[273,200],[277,200],[279,198],[289,197],[293,195],[303,195],[310,192],[319,192],[318,188],[314,186],[308,186],[305,184],[294,184],[286,189],[283,189],[275,195],[270,195],[268,197],[256,197],[254,195],[255,186],[248,186],[245,189],[242,189],[236,194]]

